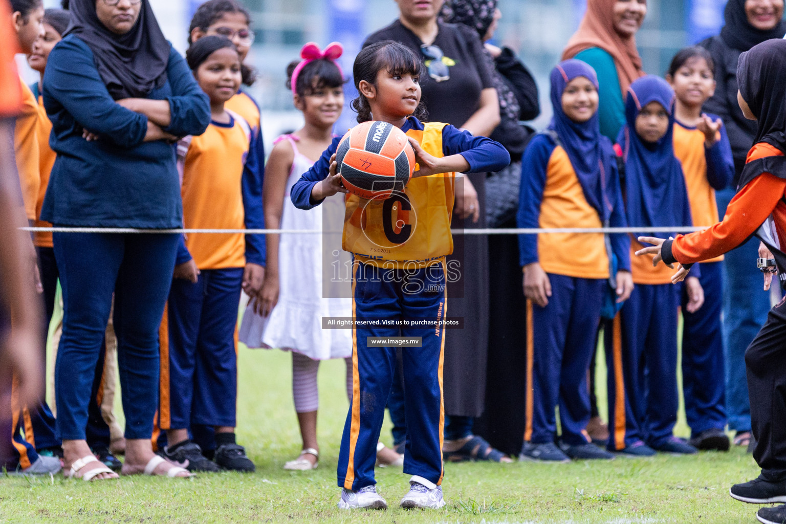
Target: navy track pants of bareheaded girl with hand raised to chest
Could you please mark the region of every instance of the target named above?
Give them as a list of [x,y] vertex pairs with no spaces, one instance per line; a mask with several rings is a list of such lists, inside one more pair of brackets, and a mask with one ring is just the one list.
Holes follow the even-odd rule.
[[704,305],[696,313],[685,310],[688,293],[684,284],[681,290],[682,390],[691,437],[709,429],[722,430],[726,425],[722,262],[703,262],[699,281],[704,289]]

